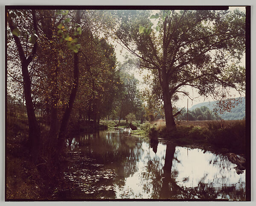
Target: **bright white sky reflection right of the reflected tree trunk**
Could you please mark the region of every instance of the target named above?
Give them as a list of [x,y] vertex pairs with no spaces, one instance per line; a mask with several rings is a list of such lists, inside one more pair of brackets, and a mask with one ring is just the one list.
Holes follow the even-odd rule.
[[180,186],[198,186],[200,181],[212,184],[212,187],[232,186],[245,182],[245,174],[238,175],[234,169],[236,164],[232,164],[226,157],[217,156],[212,152],[203,153],[200,149],[187,150],[178,147],[176,150],[179,150],[176,155],[180,163],[174,160],[172,169],[178,171],[175,181]]

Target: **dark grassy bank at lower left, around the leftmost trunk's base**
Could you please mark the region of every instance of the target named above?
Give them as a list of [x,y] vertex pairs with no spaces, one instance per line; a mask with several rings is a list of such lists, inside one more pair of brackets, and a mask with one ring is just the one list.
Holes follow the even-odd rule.
[[26,116],[9,116],[6,121],[6,198],[53,200],[56,188],[72,188],[74,183],[64,180],[65,160],[53,156],[54,144],[49,126],[39,120],[41,150],[38,162],[32,161],[28,142]]

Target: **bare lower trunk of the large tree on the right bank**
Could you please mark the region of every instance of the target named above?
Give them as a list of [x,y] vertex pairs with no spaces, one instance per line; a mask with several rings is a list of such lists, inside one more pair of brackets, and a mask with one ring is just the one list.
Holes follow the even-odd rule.
[[171,102],[171,94],[169,91],[169,85],[166,78],[163,78],[162,82],[163,89],[163,104],[164,104],[164,113],[166,119],[166,131],[171,132],[172,130],[176,130],[176,124],[174,121],[174,116],[172,114],[172,102]]

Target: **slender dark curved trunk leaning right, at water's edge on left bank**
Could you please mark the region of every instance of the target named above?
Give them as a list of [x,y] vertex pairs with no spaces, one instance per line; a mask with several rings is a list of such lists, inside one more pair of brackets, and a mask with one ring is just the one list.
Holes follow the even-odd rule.
[[[77,10],[76,13],[76,23],[81,24],[81,17],[80,17],[80,10]],[[78,38],[78,37],[77,37]],[[76,93],[78,89],[78,83],[79,83],[79,53],[74,53],[74,80],[73,80],[73,87],[70,93],[70,98],[67,104],[67,108],[65,110],[65,113],[63,115],[62,121],[61,121],[61,127],[60,127],[60,133],[58,136],[58,148],[61,150],[64,147],[66,133],[67,133],[67,127],[70,119],[70,115],[72,112],[73,104],[76,99]]]

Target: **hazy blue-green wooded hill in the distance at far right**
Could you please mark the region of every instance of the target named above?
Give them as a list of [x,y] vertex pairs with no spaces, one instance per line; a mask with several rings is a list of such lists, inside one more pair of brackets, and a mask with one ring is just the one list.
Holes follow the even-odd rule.
[[[231,109],[231,112],[225,112],[224,114],[219,114],[219,116],[221,116],[221,119],[225,119],[225,120],[243,119],[245,116],[245,96],[242,97],[241,100],[242,102],[239,102],[239,104],[236,107]],[[209,108],[209,110],[212,111],[215,108],[216,103],[217,103],[216,101],[202,102],[202,103],[193,105],[192,107],[189,108],[189,110],[194,110],[195,108],[206,106]]]

